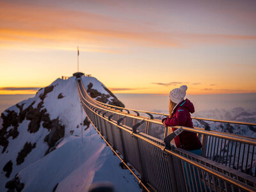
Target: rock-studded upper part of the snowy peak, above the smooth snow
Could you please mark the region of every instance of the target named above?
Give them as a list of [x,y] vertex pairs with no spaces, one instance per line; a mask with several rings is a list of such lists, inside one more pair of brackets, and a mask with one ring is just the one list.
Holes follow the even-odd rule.
[[[82,79],[93,98],[124,107],[97,79],[84,76]],[[63,138],[81,136],[80,130],[90,127],[81,110],[75,77],[57,79],[40,89],[35,97],[6,109],[0,123],[0,191],[1,186],[11,191],[21,190],[24,184],[19,178],[20,170],[47,156]]]

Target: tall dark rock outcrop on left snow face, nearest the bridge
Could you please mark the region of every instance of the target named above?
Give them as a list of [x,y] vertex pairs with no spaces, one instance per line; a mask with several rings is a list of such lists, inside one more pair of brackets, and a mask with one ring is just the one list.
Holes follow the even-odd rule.
[[[48,118],[49,118],[49,116],[48,116]],[[45,128],[51,130],[51,132],[49,134],[47,134],[47,136],[45,136],[45,138],[44,138],[44,141],[47,142],[47,144],[49,146],[48,150],[45,152],[45,155],[47,155],[49,152],[54,150],[54,149],[52,149],[52,147],[55,146],[56,142],[64,137],[65,126],[60,124],[58,118],[56,118],[52,121],[49,120],[48,122],[44,122],[44,124],[43,124],[43,126]]]

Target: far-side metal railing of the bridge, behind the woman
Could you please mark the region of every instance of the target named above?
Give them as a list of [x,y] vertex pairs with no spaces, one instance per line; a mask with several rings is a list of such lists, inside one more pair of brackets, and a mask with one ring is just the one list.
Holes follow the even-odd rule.
[[[154,136],[159,140],[163,140],[164,136],[172,132],[172,129],[170,129],[170,127],[169,129],[166,129],[166,127],[161,124],[160,120],[153,118],[154,114],[166,114],[120,108],[116,106],[111,106],[109,104],[104,104],[102,102],[92,99],[86,93],[83,84],[80,85],[80,88],[81,92],[83,92],[83,94],[86,95],[87,99],[90,100],[90,102],[92,102],[92,104],[94,104],[95,106],[109,109],[110,112],[108,113],[112,113],[112,111],[115,111],[116,113],[112,117],[113,120],[118,120],[120,116],[124,115],[125,118],[122,120],[122,123],[129,127],[137,124],[138,122],[140,122],[140,120],[145,120],[145,124],[142,124],[140,127],[138,127],[138,131],[148,134],[150,136]],[[136,113],[136,115],[132,114],[131,111]],[[140,116],[143,114],[147,116]],[[236,123],[241,125],[256,125],[246,124],[244,122],[228,122],[221,120],[210,120],[205,118],[196,119],[225,122],[230,124]],[[198,134],[198,137],[203,144],[202,156],[206,157],[207,159],[211,159],[212,161],[225,164],[225,166],[229,166],[230,168],[234,168],[248,175],[253,175],[254,177],[256,176],[256,162],[253,162],[253,159],[255,159],[256,157],[255,139],[223,132],[205,131],[204,129],[199,127],[195,127],[195,129],[183,127],[183,129],[186,131],[196,132]]]

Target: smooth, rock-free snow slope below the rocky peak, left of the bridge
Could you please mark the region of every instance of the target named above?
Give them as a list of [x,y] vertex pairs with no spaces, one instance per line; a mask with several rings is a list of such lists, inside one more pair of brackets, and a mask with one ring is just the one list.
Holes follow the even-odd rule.
[[56,191],[88,191],[90,184],[99,180],[112,182],[117,191],[141,191],[134,177],[119,163],[90,127],[83,142],[75,136],[65,138],[56,150],[22,170],[19,177],[20,182],[28,184],[23,191],[52,191],[56,184]]

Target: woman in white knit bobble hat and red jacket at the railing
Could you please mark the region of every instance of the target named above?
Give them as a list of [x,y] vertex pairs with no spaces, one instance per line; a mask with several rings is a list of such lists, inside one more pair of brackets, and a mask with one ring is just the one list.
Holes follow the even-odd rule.
[[[190,100],[184,100],[187,89],[186,85],[182,85],[180,88],[175,88],[170,92],[169,117],[162,120],[165,127],[180,125],[193,128],[190,113],[194,113],[195,108]],[[172,131],[175,130],[177,129],[172,127]],[[202,143],[195,132],[183,131],[174,138],[174,141],[177,148],[189,150],[199,156],[202,154]]]

